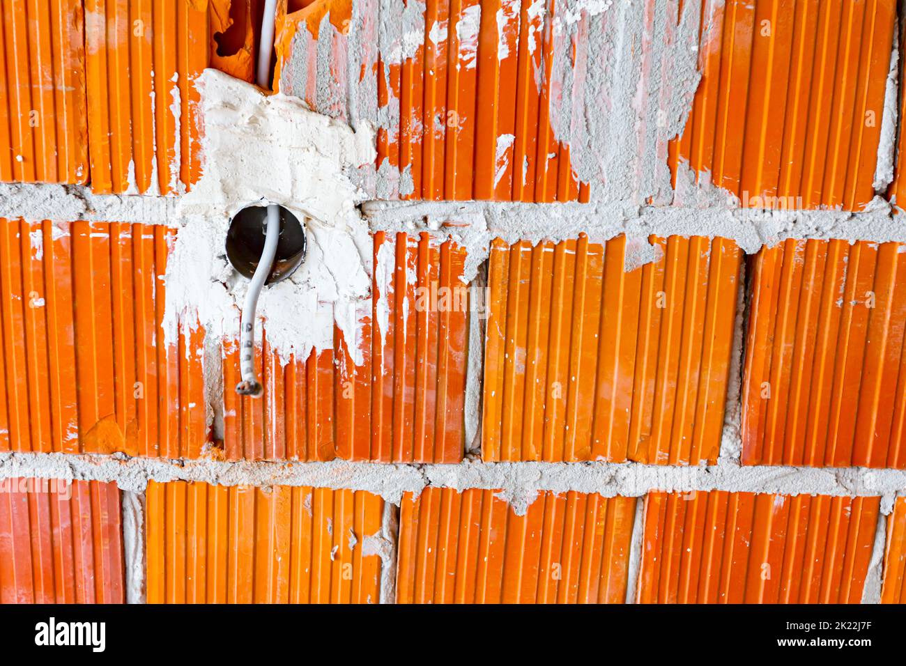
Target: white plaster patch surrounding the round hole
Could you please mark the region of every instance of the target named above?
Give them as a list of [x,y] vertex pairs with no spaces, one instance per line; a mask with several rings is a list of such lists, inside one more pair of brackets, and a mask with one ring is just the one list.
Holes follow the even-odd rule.
[[179,199],[165,331],[175,333],[181,321],[215,337],[235,335],[248,281],[226,260],[229,220],[248,205],[275,203],[304,222],[307,248],[294,275],[265,288],[258,302],[268,344],[284,362],[306,358],[333,348],[336,323],[361,363],[356,313],[371,294],[371,236],[356,205],[367,197],[358,169],[375,159],[373,131],[216,70],[202,74],[198,89],[202,175]]

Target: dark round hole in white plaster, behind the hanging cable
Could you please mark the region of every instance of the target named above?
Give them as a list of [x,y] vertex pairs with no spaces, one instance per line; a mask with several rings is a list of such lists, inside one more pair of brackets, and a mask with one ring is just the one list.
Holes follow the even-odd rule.
[[[277,254],[267,285],[285,280],[305,258],[305,230],[298,217],[283,206],[280,208],[280,238],[277,240]],[[255,268],[265,249],[267,230],[267,207],[247,206],[230,221],[226,232],[226,258],[240,275],[249,280],[255,275]]]

